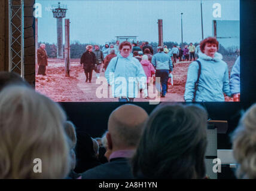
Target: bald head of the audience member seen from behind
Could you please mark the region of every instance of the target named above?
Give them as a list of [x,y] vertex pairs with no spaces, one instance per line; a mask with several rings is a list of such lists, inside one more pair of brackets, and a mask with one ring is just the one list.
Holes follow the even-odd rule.
[[136,147],[141,138],[148,113],[139,106],[125,104],[115,109],[108,119],[112,147]]

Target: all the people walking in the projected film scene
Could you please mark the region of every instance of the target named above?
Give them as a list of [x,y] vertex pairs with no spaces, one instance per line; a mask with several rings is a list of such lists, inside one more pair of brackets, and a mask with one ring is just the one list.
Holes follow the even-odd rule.
[[[100,72],[105,71],[105,77],[109,85],[112,85],[112,94],[120,98],[120,101],[133,101],[138,96],[138,88],[129,90],[130,85],[135,85],[148,98],[148,85],[153,75],[159,77],[156,81],[156,88],[159,96],[165,97],[167,93],[167,82],[172,76],[172,70],[176,59],[179,61],[185,58],[193,62],[188,67],[187,81],[185,84],[185,101],[224,101],[224,94],[233,97],[234,101],[240,100],[240,57],[231,70],[229,78],[227,63],[223,61],[223,56],[218,51],[219,42],[213,37],[203,39],[200,45],[195,47],[190,43],[189,47],[173,46],[172,50],[165,47],[157,47],[154,54],[153,48],[148,42],[133,42],[133,45],[124,41],[120,44],[105,44],[100,50],[99,45],[87,45],[86,52],[83,53],[80,63],[86,75],[86,82],[92,82],[93,70],[97,78]],[[45,44],[41,44],[37,51],[38,75],[45,75],[48,65]],[[172,61],[173,57],[173,61]],[[197,60],[196,60],[197,58]],[[117,84],[112,80],[109,73],[114,74],[114,78],[123,77],[126,79],[126,89],[122,89],[122,83]],[[129,78],[136,79],[129,82]],[[144,78],[144,80],[142,80]],[[132,84],[130,84],[132,83]],[[133,84],[135,83],[135,84]],[[120,91],[121,90],[121,91]]]

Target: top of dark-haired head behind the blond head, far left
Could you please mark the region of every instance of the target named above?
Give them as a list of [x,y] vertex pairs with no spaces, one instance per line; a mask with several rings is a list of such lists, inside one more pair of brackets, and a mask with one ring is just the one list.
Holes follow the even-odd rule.
[[19,74],[16,72],[0,72],[0,91],[7,85],[25,85],[26,87],[31,87],[28,82],[26,82]]

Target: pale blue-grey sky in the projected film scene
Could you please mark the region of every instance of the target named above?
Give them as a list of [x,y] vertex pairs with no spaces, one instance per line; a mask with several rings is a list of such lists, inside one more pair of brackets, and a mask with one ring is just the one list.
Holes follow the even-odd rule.
[[[71,21],[71,42],[105,44],[115,36],[138,36],[139,41],[158,42],[158,19],[163,19],[164,41],[181,42],[181,13],[183,41],[202,40],[200,0],[190,1],[55,1],[36,0],[42,5],[38,19],[38,41],[57,42],[56,19],[51,5],[68,6],[66,19]],[[221,18],[214,18],[212,6],[221,4]],[[239,0],[203,0],[204,36],[212,36],[212,20],[239,20]],[[63,20],[63,39],[64,39]],[[223,30],[233,30],[231,27]],[[239,35],[239,32],[237,32]],[[237,36],[237,35],[236,35]],[[64,41],[63,41],[64,42]]]

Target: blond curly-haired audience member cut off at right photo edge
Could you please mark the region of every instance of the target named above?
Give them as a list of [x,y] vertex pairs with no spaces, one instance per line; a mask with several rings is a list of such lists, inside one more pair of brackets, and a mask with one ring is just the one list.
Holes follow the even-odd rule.
[[240,119],[233,133],[234,159],[239,164],[237,178],[256,178],[256,104],[253,104]]

